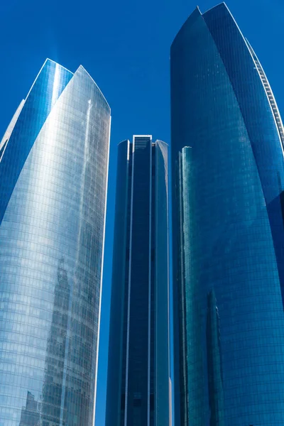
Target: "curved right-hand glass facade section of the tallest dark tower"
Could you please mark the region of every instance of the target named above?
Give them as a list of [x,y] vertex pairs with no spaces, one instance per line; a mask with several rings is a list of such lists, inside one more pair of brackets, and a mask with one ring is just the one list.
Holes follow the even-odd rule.
[[284,300],[283,149],[275,117],[248,45],[225,4],[203,15],[239,102],[256,158],[278,260]]

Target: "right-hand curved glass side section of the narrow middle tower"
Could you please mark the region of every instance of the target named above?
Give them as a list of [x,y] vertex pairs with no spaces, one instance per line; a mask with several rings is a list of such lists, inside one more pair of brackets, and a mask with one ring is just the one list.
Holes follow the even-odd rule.
[[168,145],[155,143],[155,426],[169,425]]

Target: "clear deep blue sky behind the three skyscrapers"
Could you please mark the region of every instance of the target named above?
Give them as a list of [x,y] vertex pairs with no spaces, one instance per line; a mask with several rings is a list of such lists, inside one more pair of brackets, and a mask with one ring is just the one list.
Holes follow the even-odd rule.
[[[45,58],[82,64],[111,106],[111,155],[96,426],[104,426],[116,145],[133,133],[170,142],[170,44],[187,16],[214,0],[0,0],[0,134]],[[226,4],[268,75],[284,114],[283,0]]]

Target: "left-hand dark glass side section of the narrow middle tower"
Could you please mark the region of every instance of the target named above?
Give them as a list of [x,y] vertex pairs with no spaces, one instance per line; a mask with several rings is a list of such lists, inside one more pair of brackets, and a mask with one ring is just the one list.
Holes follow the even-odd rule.
[[107,426],[123,426],[125,413],[126,334],[129,293],[129,228],[132,145],[119,143],[116,173],[114,256],[111,280]]

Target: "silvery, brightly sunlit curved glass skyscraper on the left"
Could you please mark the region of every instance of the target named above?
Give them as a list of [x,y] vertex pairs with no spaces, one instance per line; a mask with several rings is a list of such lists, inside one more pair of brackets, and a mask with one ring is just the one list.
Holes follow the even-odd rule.
[[0,425],[93,426],[110,109],[46,60],[0,143]]

